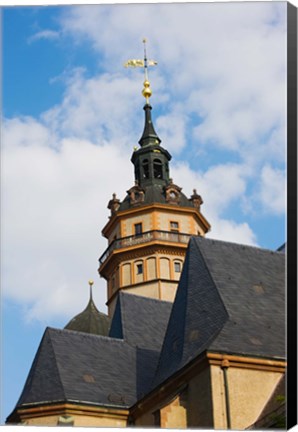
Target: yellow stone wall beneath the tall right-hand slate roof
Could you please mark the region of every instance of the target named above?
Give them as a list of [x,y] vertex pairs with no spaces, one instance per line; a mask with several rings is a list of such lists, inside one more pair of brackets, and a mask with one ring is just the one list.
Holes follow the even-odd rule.
[[[207,354],[132,408],[137,427],[249,428],[285,373],[285,362],[230,356],[226,400],[221,354]],[[230,427],[227,422],[229,405]]]

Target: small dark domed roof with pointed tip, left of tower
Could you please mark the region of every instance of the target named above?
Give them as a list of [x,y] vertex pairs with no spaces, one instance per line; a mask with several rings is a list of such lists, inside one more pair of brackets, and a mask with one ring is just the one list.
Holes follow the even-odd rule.
[[110,318],[97,309],[92,296],[90,296],[90,300],[83,312],[72,318],[64,328],[107,336],[110,328]]

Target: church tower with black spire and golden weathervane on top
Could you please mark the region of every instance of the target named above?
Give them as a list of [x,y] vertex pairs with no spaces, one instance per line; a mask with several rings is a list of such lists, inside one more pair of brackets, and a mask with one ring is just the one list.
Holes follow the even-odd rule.
[[122,202],[113,194],[111,215],[102,230],[108,247],[99,258],[99,274],[107,280],[110,316],[120,290],[174,301],[190,236],[204,236],[210,229],[201,213],[201,196],[194,189],[187,198],[170,177],[171,155],[152,122],[147,68],[156,62],[147,60],[145,42],[144,61],[126,64],[145,71],[145,125],[131,157],[135,184]]

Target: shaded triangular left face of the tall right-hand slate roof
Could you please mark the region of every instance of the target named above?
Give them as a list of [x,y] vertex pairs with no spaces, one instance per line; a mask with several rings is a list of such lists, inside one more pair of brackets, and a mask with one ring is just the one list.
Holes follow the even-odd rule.
[[207,349],[227,319],[217,287],[192,238],[153,386]]

